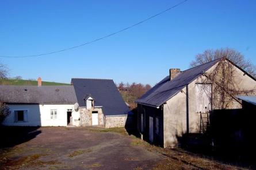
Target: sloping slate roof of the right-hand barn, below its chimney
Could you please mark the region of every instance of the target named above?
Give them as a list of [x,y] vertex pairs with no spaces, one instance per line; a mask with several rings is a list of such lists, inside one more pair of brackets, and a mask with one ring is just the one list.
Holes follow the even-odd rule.
[[136,100],[136,103],[150,105],[154,107],[161,106],[171,97],[180,92],[186,85],[190,84],[203,72],[207,71],[215,65],[220,59],[207,62],[206,64],[196,66],[194,68],[185,70],[178,74],[170,81],[170,76],[163,78],[153,88],[148,90],[142,97]]

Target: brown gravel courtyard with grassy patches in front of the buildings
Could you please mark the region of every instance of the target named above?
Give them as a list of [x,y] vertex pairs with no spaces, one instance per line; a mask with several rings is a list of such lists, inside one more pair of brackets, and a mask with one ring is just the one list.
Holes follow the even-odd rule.
[[0,169],[242,169],[152,146],[124,128],[2,128]]

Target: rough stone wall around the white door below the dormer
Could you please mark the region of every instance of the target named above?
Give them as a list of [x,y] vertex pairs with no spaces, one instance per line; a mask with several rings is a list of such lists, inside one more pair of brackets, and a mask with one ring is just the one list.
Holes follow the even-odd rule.
[[91,126],[92,124],[92,112],[98,111],[98,125],[104,125],[104,114],[102,113],[101,108],[94,109],[79,109],[80,113],[80,126]]

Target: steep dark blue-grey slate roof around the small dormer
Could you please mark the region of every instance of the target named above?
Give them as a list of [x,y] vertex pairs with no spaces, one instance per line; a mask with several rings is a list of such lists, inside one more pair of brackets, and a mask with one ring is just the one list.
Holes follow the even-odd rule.
[[102,106],[106,116],[128,114],[129,108],[116,88],[113,80],[72,78],[79,106],[86,106],[83,98],[91,94],[95,106]]

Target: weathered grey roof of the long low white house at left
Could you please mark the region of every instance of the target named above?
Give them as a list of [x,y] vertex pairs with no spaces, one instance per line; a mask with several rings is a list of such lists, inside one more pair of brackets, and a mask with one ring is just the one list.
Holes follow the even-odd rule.
[[0,101],[9,104],[75,104],[73,86],[0,85]]

